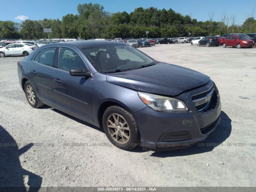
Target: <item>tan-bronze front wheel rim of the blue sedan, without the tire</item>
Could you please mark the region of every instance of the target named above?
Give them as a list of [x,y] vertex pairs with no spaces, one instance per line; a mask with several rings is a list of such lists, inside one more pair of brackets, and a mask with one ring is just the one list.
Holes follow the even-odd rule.
[[112,113],[107,119],[108,133],[119,143],[126,144],[130,140],[130,128],[127,121],[117,113]]

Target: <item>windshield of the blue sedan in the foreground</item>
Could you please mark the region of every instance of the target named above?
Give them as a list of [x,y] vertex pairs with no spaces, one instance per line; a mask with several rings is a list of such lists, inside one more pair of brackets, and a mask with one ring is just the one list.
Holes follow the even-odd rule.
[[129,71],[156,64],[156,61],[126,44],[82,48],[96,70],[103,73]]

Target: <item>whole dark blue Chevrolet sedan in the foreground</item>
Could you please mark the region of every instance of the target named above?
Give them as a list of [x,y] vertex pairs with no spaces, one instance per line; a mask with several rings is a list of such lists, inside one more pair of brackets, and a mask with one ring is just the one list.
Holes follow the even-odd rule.
[[103,128],[123,150],[186,148],[220,121],[210,77],[118,42],[40,47],[18,62],[18,77],[32,107],[46,104]]

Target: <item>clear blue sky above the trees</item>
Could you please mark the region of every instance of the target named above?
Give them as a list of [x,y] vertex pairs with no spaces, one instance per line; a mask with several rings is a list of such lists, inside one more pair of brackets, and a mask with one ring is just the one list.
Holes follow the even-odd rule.
[[166,10],[172,8],[175,12],[190,15],[198,21],[208,20],[209,13],[214,13],[214,20],[219,21],[220,14],[226,12],[228,16],[236,14],[236,23],[242,24],[246,18],[252,16],[254,7],[254,17],[256,15],[256,0],[0,0],[0,20],[21,22],[25,18],[61,19],[68,13],[76,14],[79,3],[89,2],[103,5],[110,13],[118,11],[130,13],[137,7],[153,6]]

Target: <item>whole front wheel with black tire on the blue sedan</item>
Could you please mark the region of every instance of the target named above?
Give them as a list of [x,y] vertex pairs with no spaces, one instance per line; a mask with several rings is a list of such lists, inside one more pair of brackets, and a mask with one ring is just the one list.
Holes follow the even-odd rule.
[[108,140],[122,150],[131,150],[140,142],[138,126],[132,114],[119,106],[110,106],[105,110],[102,125]]

